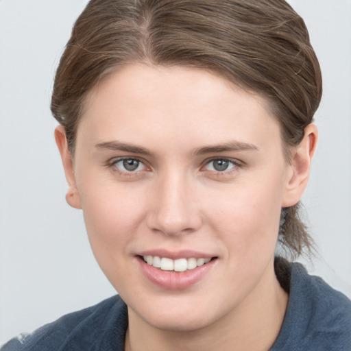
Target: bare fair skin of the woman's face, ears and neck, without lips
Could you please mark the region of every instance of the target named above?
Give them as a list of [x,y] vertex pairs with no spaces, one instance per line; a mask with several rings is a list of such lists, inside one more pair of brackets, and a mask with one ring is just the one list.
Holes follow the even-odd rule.
[[[88,101],[75,154],[62,126],[56,142],[67,202],[83,209],[97,262],[128,304],[125,350],[268,350],[288,301],[274,274],[280,210],[305,189],[315,125],[287,162],[262,97],[178,66],[130,64]],[[106,147],[111,142],[141,150]],[[228,143],[239,148],[199,153]],[[121,157],[138,160],[136,171]],[[213,159],[228,160],[228,169],[216,171]],[[136,258],[154,249],[216,260],[194,285],[164,289]]]

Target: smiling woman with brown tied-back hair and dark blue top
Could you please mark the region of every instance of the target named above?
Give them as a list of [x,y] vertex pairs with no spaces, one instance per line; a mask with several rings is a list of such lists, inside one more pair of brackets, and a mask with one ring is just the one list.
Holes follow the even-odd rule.
[[119,297],[3,350],[348,350],[350,302],[276,257],[322,95],[285,1],[93,0],[51,109],[97,262]]

